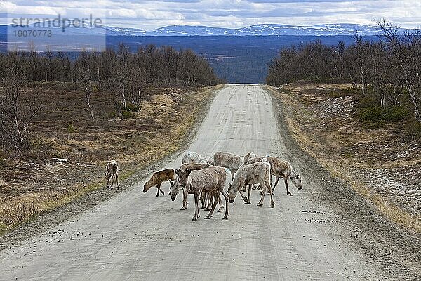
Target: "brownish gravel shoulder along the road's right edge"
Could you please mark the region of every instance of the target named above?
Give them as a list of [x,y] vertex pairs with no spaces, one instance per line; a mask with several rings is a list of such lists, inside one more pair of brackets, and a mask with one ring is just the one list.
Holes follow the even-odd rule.
[[[421,235],[389,221],[373,203],[355,192],[346,181],[336,178],[314,157],[302,150],[286,122],[286,105],[274,95],[270,86],[262,86],[269,93],[281,138],[288,149],[288,161],[301,169],[313,170],[310,182],[320,187],[318,197],[312,200],[329,207],[346,222],[349,241],[356,250],[396,280],[421,279]],[[392,271],[393,270],[393,271]],[[391,276],[392,277],[392,276]]]

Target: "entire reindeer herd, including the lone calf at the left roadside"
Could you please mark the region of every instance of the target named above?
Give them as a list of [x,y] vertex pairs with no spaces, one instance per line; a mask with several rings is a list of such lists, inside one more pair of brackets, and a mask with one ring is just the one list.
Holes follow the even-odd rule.
[[[187,152],[183,155],[181,164],[180,169],[165,169],[152,174],[149,181],[143,185],[143,192],[156,186],[156,196],[159,196],[160,193],[164,194],[161,184],[169,181],[171,188],[168,195],[171,195],[171,200],[174,201],[180,190],[182,191],[181,210],[187,209],[187,195],[194,195],[196,211],[193,221],[200,217],[199,202],[201,202],[202,209],[210,211],[206,219],[213,216],[218,204],[218,212],[222,212],[224,205],[221,195],[225,199],[223,219],[228,219],[229,203],[234,203],[238,192],[245,204],[250,204],[251,190],[260,190],[261,198],[258,206],[263,205],[265,193],[269,192],[270,207],[274,208],[273,192],[279,178],[283,178],[287,195],[291,195],[288,190],[288,179],[294,183],[298,190],[302,189],[301,177],[295,173],[291,164],[270,155],[256,157],[253,152],[248,152],[241,157],[229,152],[216,152],[212,157],[206,159],[196,152]],[[108,188],[112,188],[114,180],[117,181],[117,188],[119,188],[118,174],[118,164],[115,161],[110,161],[105,171]],[[273,187],[272,176],[276,177]]]

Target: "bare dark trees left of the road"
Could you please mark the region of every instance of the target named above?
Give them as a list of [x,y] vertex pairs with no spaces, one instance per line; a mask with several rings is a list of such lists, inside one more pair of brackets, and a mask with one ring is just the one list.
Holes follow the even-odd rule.
[[36,95],[29,100],[25,86],[33,82],[60,81],[74,84],[91,107],[93,92],[109,91],[116,110],[129,114],[144,100],[148,84],[181,87],[211,86],[222,81],[205,58],[193,51],[172,47],[142,46],[135,53],[121,44],[116,51],[79,53],[75,60],[64,53],[36,52],[0,54],[0,148],[22,152],[29,148],[29,124],[41,110]]

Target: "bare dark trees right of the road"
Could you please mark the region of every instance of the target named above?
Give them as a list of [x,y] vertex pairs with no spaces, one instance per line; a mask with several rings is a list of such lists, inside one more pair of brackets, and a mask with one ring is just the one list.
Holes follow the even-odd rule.
[[[421,123],[421,30],[401,32],[390,22],[378,22],[382,36],[366,41],[356,32],[354,44],[326,46],[321,41],[282,48],[269,64],[267,84],[300,80],[345,82],[366,100],[362,119]],[[420,126],[417,126],[420,129]]]

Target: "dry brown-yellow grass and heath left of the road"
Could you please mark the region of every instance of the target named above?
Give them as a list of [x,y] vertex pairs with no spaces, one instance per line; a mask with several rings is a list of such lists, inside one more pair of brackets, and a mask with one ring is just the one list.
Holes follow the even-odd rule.
[[[46,89],[45,100],[59,91],[53,103],[60,106],[48,106],[36,120],[32,155],[9,157],[0,167],[5,171],[0,176],[0,235],[103,188],[102,169],[109,159],[119,161],[120,179],[124,181],[135,171],[178,151],[188,141],[190,130],[215,89],[218,87],[198,91],[154,89],[132,119],[109,119],[108,112],[113,109],[107,97],[98,97],[96,105],[103,103],[103,112],[95,112],[95,121],[88,119],[83,99],[79,100],[83,97],[75,98],[80,93]],[[76,127],[71,133],[66,126],[69,119]],[[39,160],[50,157],[69,162]],[[36,166],[28,166],[32,162]]]

